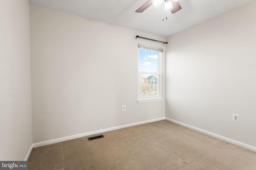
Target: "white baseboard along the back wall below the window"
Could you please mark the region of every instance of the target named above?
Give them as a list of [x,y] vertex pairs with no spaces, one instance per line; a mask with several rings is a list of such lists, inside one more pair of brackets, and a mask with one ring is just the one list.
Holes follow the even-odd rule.
[[[130,123],[130,124],[127,124],[127,125],[121,125],[121,126],[116,126],[116,127],[110,127],[110,128],[101,129],[101,130],[98,130],[98,131],[91,131],[91,132],[81,133],[81,134],[72,135],[72,136],[68,136],[68,137],[62,137],[62,138],[58,138],[58,139],[52,139],[52,140],[49,140],[49,141],[43,141],[43,142],[34,143],[34,144],[32,145],[32,147],[34,147],[34,148],[36,148],[36,147],[42,147],[42,146],[50,145],[50,144],[53,144],[53,143],[68,141],[68,140],[71,140],[71,139],[76,139],[76,138],[80,138],[80,137],[85,137],[85,136],[89,136],[89,135],[94,135],[94,134],[97,134],[97,133],[103,133],[103,132],[107,132],[107,131],[113,131],[113,130],[122,129],[122,128],[125,128],[125,127],[141,125],[141,124],[144,124],[144,123],[150,123],[150,122],[153,122],[153,121],[160,121],[160,120],[164,120],[164,119],[166,119],[166,118],[165,118],[165,117],[161,117],[161,118],[157,118],[157,119],[151,119],[151,120],[140,121],[140,122],[136,122],[136,123]],[[31,152],[31,151],[30,151],[30,152]],[[28,156],[29,156],[29,154],[28,154]]]

